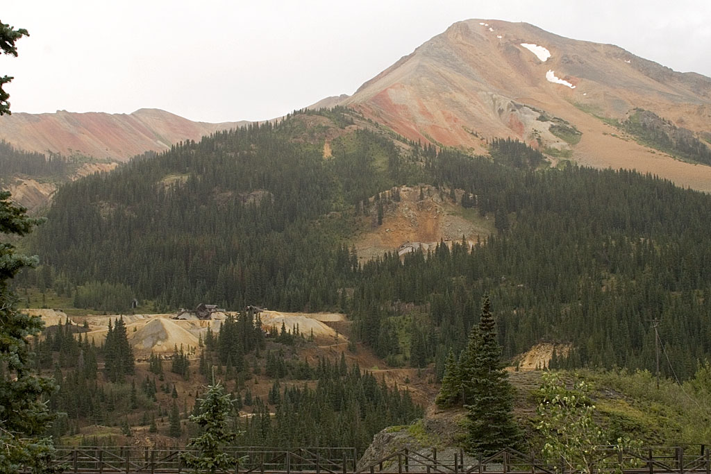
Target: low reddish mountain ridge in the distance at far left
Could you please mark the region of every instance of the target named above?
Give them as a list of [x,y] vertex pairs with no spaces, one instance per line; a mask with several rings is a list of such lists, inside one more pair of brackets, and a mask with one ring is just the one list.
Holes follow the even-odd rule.
[[15,112],[0,117],[0,139],[18,149],[128,161],[145,151],[164,151],[178,141],[199,140],[213,131],[248,122],[192,122],[159,109],[132,114]]

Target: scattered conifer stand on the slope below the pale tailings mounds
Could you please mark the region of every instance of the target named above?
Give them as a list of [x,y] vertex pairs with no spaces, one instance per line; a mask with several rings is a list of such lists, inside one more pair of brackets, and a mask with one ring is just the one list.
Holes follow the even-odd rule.
[[[147,373],[135,368],[122,318],[113,322],[101,345],[84,332],[66,321],[33,341],[38,370],[52,373],[59,386],[48,400],[58,414],[52,427],[56,440],[87,424],[120,425],[126,435],[132,427],[149,426],[150,433],[170,436],[171,444],[179,445],[200,432],[183,420],[200,414],[204,387],[198,387],[211,377],[228,389],[240,446],[349,446],[363,452],[381,429],[422,416],[407,389],[387,387],[358,365],[349,366],[343,353],[340,360],[319,357],[309,365],[294,350],[309,347],[306,335],[282,328],[267,340],[259,317],[250,312],[228,317],[218,333],[208,331],[198,348],[176,348],[169,357],[151,354]],[[188,354],[196,351],[197,375]],[[252,394],[262,371],[274,380],[266,399]],[[198,377],[191,385],[196,389],[178,395],[176,382],[191,373]]]

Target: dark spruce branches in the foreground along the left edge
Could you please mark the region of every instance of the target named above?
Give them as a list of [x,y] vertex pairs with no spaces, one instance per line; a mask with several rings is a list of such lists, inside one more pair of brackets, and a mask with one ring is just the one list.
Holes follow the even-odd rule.
[[[27,217],[26,210],[10,203],[9,198],[10,193],[0,192],[0,234],[26,235],[41,220]],[[44,472],[53,452],[52,438],[47,436],[53,416],[45,401],[55,390],[55,384],[33,370],[28,338],[37,335],[44,323],[38,316],[16,311],[17,298],[9,287],[18,271],[36,262],[36,258],[17,254],[13,245],[0,242],[0,472],[3,473],[16,472],[22,465],[33,472]]]

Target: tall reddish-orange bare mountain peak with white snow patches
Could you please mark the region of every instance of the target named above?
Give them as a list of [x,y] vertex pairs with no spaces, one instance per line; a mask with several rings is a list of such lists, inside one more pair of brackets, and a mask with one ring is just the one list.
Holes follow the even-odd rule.
[[646,109],[706,146],[710,78],[528,23],[454,23],[338,104],[409,139],[481,152],[491,138],[510,136],[554,160],[635,168],[711,190],[711,167],[651,153],[615,126]]

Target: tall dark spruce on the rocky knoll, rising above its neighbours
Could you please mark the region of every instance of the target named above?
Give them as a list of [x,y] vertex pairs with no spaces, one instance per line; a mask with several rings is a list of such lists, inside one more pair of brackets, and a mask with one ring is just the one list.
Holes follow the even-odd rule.
[[466,450],[488,456],[517,446],[520,430],[513,419],[513,387],[501,364],[491,302],[484,298],[479,325],[472,330],[461,363],[462,393],[467,409]]

